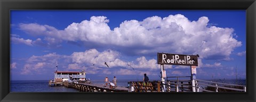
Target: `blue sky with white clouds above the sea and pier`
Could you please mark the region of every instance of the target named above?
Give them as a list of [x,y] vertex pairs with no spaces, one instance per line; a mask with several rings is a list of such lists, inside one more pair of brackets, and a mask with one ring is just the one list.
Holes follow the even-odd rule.
[[[244,79],[245,15],[245,10],[13,10],[11,80],[53,79],[57,61],[58,71],[85,70],[92,80],[142,80],[143,73],[159,79],[161,52],[198,54],[197,79],[235,79],[236,70]],[[168,77],[190,75],[189,66],[165,70]]]

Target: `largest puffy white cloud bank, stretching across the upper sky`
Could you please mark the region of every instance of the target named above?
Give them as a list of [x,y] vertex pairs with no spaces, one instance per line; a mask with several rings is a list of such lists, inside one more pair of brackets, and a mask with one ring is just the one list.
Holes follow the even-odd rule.
[[[234,48],[242,46],[233,36],[234,29],[209,26],[206,16],[190,21],[182,14],[165,18],[151,16],[142,21],[123,21],[110,30],[106,16],[72,23],[64,30],[37,23],[20,24],[21,30],[34,36],[46,36],[49,45],[61,41],[83,41],[88,45],[116,46],[124,54],[154,55],[157,52],[199,54],[211,60],[228,59]],[[49,39],[51,38],[51,39]],[[127,51],[129,49],[129,52]]]

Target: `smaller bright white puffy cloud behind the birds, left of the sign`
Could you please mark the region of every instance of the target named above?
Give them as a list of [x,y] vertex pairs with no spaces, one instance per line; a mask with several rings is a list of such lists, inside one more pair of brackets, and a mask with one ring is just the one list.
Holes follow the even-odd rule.
[[[74,52],[71,54],[73,63],[95,65],[100,67],[107,67],[104,62],[111,68],[113,67],[134,67],[135,69],[158,69],[157,61],[155,59],[147,60],[145,56],[137,58],[132,62],[125,62],[119,59],[120,53],[114,50],[105,50],[98,52],[96,49],[85,50],[85,52]],[[129,66],[130,65],[130,66]]]

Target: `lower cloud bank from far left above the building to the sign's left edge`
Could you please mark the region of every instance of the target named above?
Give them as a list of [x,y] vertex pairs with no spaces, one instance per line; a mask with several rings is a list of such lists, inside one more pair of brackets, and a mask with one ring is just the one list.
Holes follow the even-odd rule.
[[[85,70],[86,73],[104,73],[104,74],[134,74],[132,67],[138,72],[137,74],[154,71],[159,69],[155,59],[147,60],[145,56],[138,57],[134,61],[127,62],[120,60],[120,53],[114,50],[104,50],[99,52],[96,49],[85,50],[85,52],[74,52],[71,55],[59,55],[50,53],[42,56],[31,56],[27,64],[23,67],[22,74],[39,72],[42,70],[55,70],[55,63],[58,61],[58,70]],[[109,67],[105,65],[107,62]],[[129,65],[130,66],[129,66]],[[28,68],[29,71],[26,69]],[[124,73],[122,72],[124,71]],[[127,71],[127,72],[125,72]],[[154,73],[151,73],[154,74]]]

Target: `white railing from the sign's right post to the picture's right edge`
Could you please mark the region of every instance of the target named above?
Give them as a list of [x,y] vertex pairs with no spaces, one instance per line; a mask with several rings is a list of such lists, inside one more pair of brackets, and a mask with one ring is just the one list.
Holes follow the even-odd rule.
[[[246,86],[237,85],[237,84],[220,83],[220,82],[212,82],[212,81],[205,81],[205,80],[198,80],[197,79],[196,80],[197,88],[198,88],[199,85],[203,85],[203,86],[206,86],[206,87],[213,87],[213,88],[215,88],[215,92],[218,92],[219,89],[227,89],[227,90],[246,92]],[[230,87],[227,87],[227,86],[230,86]],[[243,87],[243,89],[231,88],[231,86]],[[205,89],[199,89],[199,90],[207,91],[207,92],[214,92],[213,90],[205,90]]]

